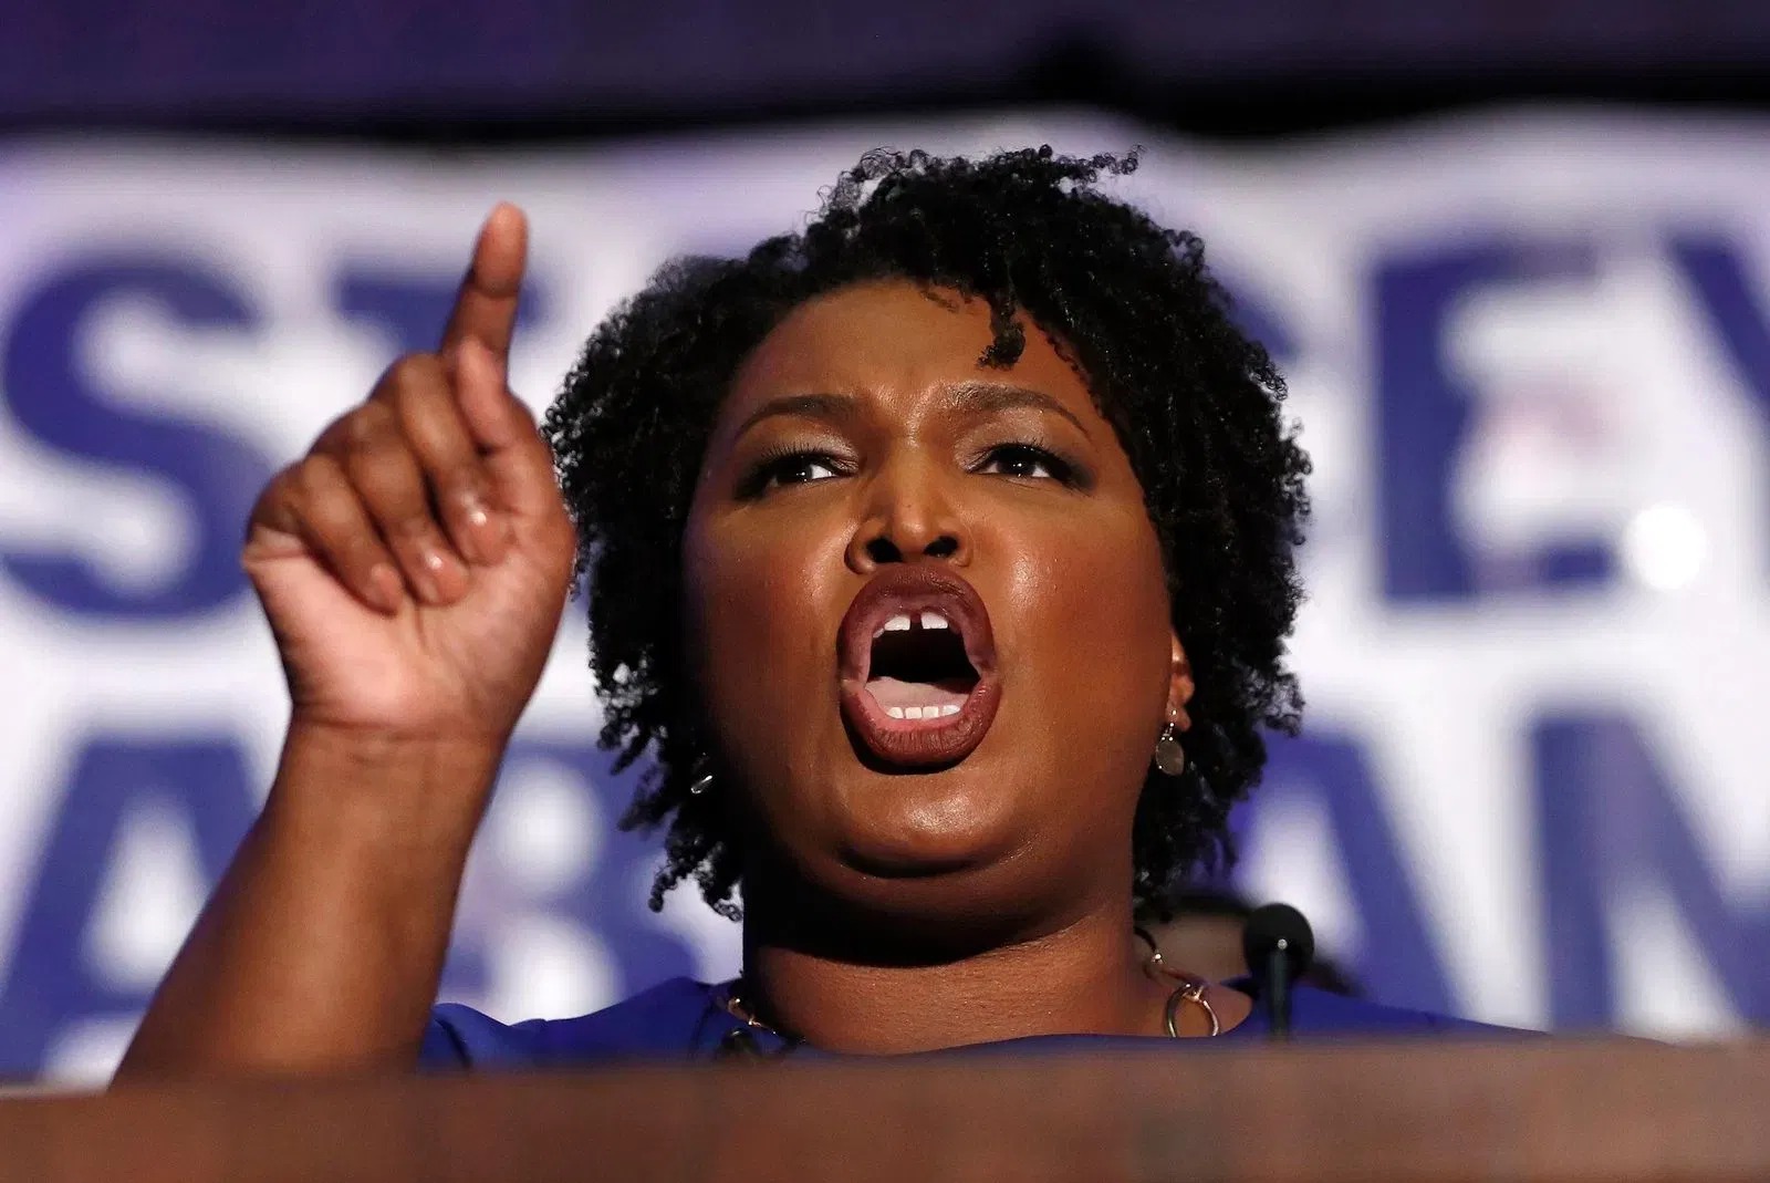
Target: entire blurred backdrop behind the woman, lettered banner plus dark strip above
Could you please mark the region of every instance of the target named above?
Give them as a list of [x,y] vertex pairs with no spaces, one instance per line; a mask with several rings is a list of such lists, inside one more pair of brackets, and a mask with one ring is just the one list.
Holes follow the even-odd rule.
[[[862,151],[1046,142],[1143,147],[1119,191],[1205,237],[1315,457],[1308,724],[1227,887],[1384,1002],[1770,1024],[1761,0],[4,0],[0,1075],[120,1054],[276,758],[244,514],[496,200],[540,407]],[[736,969],[644,909],[577,615],[444,981],[503,1018]]]

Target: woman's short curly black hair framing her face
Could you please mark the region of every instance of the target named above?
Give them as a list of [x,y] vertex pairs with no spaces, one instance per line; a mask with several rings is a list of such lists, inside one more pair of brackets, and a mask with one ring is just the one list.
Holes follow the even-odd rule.
[[1136,154],[1050,147],[982,159],[869,152],[804,234],[735,260],[681,259],[589,338],[545,420],[589,583],[589,666],[604,747],[653,760],[625,829],[669,823],[651,891],[694,877],[738,916],[742,850],[710,795],[683,652],[681,540],[708,432],[742,360],[796,305],[851,283],[910,280],[988,301],[1011,367],[1043,328],[1094,393],[1142,482],[1175,630],[1195,678],[1182,785],[1145,785],[1133,834],[1140,903],[1232,859],[1228,811],[1266,763],[1262,728],[1294,731],[1285,638],[1301,600],[1294,545],[1308,459],[1283,421],[1283,381],[1243,335],[1202,243],[1097,189]]

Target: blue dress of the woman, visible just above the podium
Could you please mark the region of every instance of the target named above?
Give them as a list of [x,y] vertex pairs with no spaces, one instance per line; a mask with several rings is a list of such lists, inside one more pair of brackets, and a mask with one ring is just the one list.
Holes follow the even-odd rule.
[[[1241,978],[1230,983],[1244,994],[1253,985]],[[726,1009],[731,983],[710,986],[689,978],[671,978],[643,990],[625,1002],[577,1018],[531,1018],[501,1024],[480,1011],[444,1002],[435,1008],[425,1031],[419,1063],[425,1068],[531,1070],[589,1068],[620,1061],[708,1061],[731,1054],[735,1047],[761,1055],[791,1052],[814,1055],[811,1048],[788,1048],[772,1031],[745,1029]],[[1296,986],[1290,1002],[1290,1029],[1296,1038],[1393,1038],[1421,1034],[1508,1034],[1462,1018],[1427,1011],[1409,1011],[1347,999],[1324,990]],[[1248,1043],[1267,1032],[1266,1015],[1255,1006],[1235,1029],[1209,1043]],[[966,1054],[1039,1054],[1039,1052],[1112,1052],[1170,1045],[1149,1036],[1027,1036],[1000,1043],[954,1048]],[[1184,1040],[1200,1045],[1200,1040]],[[747,1047],[745,1047],[747,1045]]]

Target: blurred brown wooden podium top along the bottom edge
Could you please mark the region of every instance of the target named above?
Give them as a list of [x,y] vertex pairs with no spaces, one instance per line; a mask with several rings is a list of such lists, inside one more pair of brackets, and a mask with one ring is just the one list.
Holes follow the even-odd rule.
[[0,1179],[1770,1179],[1770,1043],[1211,1047],[0,1102]]

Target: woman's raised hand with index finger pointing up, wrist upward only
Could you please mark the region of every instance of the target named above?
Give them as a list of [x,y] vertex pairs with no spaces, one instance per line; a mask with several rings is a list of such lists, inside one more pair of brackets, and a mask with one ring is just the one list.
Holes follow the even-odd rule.
[[395,361],[253,508],[242,560],[292,726],[501,744],[535,692],[573,531],[506,384],[526,253],[497,205],[437,352]]

